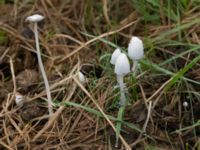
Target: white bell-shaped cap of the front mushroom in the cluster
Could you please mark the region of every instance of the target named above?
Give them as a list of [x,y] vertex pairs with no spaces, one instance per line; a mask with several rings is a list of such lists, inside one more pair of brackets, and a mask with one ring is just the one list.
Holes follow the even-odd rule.
[[121,53],[115,63],[115,73],[117,75],[126,75],[130,72],[130,64],[127,56]]

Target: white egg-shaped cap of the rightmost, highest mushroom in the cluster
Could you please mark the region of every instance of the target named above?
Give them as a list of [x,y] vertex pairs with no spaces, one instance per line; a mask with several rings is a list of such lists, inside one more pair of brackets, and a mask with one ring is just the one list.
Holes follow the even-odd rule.
[[139,60],[144,57],[143,42],[138,37],[133,36],[128,45],[128,56],[132,60]]

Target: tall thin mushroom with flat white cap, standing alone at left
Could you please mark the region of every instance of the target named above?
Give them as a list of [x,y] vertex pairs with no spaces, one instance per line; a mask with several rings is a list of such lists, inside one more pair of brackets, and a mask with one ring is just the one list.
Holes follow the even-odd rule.
[[47,79],[47,75],[45,73],[44,70],[44,66],[42,63],[42,58],[41,58],[41,53],[40,53],[40,46],[39,46],[39,38],[38,38],[38,22],[42,21],[44,19],[44,16],[35,14],[32,16],[28,16],[26,18],[26,21],[29,22],[33,22],[34,23],[34,34],[35,34],[35,44],[36,44],[36,50],[37,50],[37,58],[38,58],[38,64],[39,64],[39,68],[40,71],[42,73],[42,77],[44,80],[44,84],[45,84],[45,89],[46,89],[46,93],[47,93],[47,100],[48,100],[48,110],[49,110],[49,114],[53,114],[53,108],[52,108],[52,98],[51,98],[51,92],[50,92],[50,88],[49,88],[49,82]]

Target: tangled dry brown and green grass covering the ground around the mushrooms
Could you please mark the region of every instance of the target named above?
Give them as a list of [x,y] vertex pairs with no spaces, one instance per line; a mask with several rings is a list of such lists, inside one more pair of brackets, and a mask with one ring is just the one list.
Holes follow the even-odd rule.
[[[0,82],[7,92],[0,90],[0,149],[113,149],[113,135],[120,136],[119,147],[125,149],[199,148],[198,0],[32,1],[26,5],[27,2],[9,4],[13,5],[17,21],[11,25],[11,16],[6,14],[0,23],[0,53],[5,47],[10,48],[1,61],[6,64],[12,58],[17,70],[11,75],[5,71],[10,68],[0,65],[1,77],[8,79]],[[1,7],[9,7],[7,1],[0,3]],[[52,96],[59,101],[54,101],[56,115],[52,120],[45,120],[43,114],[26,123],[21,112],[30,117],[37,114],[33,111],[42,109],[17,108],[12,83],[17,83],[17,92],[30,103],[46,99],[44,89],[35,88],[42,82],[40,79],[34,83],[36,86],[29,87],[20,87],[17,80],[27,68],[38,70],[37,64],[30,63],[35,55],[32,39],[20,34],[27,25],[21,24],[23,18],[35,11],[46,16],[40,27],[41,48]],[[134,79],[131,74],[125,78],[129,92],[125,108],[117,105],[119,90],[115,88],[116,77],[109,61],[115,48],[127,53],[132,35],[143,39],[145,58],[139,62],[140,73]],[[25,57],[30,54],[30,62],[18,56],[21,48],[28,51]],[[74,75],[84,63],[101,66],[103,73],[101,77],[88,77],[88,83],[82,85]],[[16,76],[16,81],[8,78],[11,76]],[[143,133],[150,100],[152,111]],[[182,107],[184,101],[189,102],[187,111]]]

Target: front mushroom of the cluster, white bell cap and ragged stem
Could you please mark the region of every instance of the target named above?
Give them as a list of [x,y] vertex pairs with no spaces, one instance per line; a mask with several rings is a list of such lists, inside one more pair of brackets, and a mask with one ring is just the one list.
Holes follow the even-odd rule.
[[119,55],[115,63],[115,73],[117,75],[117,82],[120,87],[120,105],[126,104],[125,97],[125,84],[124,84],[124,76],[130,72],[130,64],[127,56],[123,53]]

